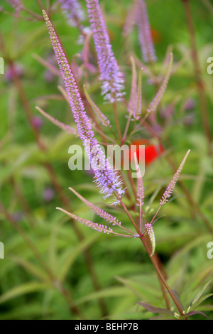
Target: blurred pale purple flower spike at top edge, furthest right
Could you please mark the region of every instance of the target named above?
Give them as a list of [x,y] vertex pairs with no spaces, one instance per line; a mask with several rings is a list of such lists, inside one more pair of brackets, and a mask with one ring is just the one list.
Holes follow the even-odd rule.
[[157,58],[155,56],[155,48],[153,46],[151,28],[144,0],[138,0],[138,35],[143,61],[146,63],[154,63]]

